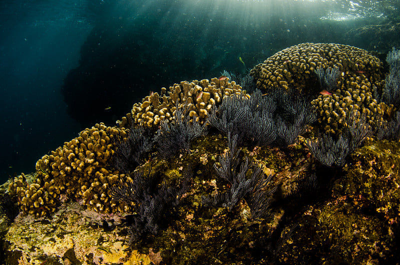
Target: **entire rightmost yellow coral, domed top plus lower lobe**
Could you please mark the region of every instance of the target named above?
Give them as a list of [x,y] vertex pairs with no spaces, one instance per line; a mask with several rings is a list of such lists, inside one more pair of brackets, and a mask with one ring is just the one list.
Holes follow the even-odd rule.
[[305,91],[318,84],[316,67],[338,67],[337,89],[312,101],[324,130],[338,133],[352,109],[366,112],[371,122],[375,122],[375,114],[383,114],[383,109],[387,109],[373,97],[373,92],[381,92],[384,85],[382,66],[379,58],[360,48],[334,43],[301,43],[275,53],[256,65],[250,74],[260,88],[292,85]]

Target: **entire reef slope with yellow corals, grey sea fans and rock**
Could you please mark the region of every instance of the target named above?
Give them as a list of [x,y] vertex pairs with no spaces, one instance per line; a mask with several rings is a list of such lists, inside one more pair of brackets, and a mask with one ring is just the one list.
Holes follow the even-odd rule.
[[[266,94],[255,90],[251,96],[227,78],[175,84],[168,96],[163,89],[162,103],[152,93],[135,104],[136,110],[144,104],[137,119],[136,111],[119,128],[86,128],[38,160],[36,173],[5,184],[23,213],[0,226],[4,263],[397,262],[400,112],[376,98],[369,105],[365,98],[360,105],[352,96],[353,101],[340,99],[343,91],[350,93],[345,82],[351,75],[363,76],[353,85],[364,82],[365,93],[372,86],[383,89],[381,64],[345,45],[306,43],[293,50],[299,47],[302,59],[317,47],[325,54],[326,48],[329,60],[318,53],[306,63],[340,71],[336,91],[319,97],[337,97],[334,104],[344,100],[349,106],[337,106],[344,111],[342,123],[323,116],[319,122],[328,131],[334,122],[342,124],[336,131],[341,134],[310,140],[314,131],[306,131],[306,124],[315,119],[315,107],[301,83],[300,89],[268,84]],[[304,66],[299,56],[300,51],[297,59]],[[303,81],[309,74],[317,90],[333,85],[334,72],[318,84],[310,67]],[[321,109],[332,114],[326,104]],[[164,107],[169,114],[156,122],[154,113]],[[391,120],[380,122],[382,116]],[[195,137],[205,132],[206,122],[222,133],[211,128]],[[148,132],[137,127],[140,123]],[[378,136],[371,137],[379,125]],[[156,128],[157,152],[151,146]],[[189,147],[190,152],[173,155]],[[142,157],[146,151],[149,159]],[[121,218],[122,212],[129,215]]]

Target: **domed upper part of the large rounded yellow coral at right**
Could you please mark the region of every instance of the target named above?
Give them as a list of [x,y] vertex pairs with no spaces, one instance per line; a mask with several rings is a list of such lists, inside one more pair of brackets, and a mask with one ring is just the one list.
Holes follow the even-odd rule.
[[[254,66],[250,75],[255,78],[258,88],[293,84],[304,89],[310,79],[316,79],[313,71],[318,66],[338,67],[342,73],[339,86],[345,88],[350,87],[350,77],[357,76],[359,79],[355,82],[359,87],[356,88],[367,82],[381,85],[383,64],[377,57],[360,48],[334,43],[301,43],[285,48]],[[362,80],[365,84],[361,84]]]

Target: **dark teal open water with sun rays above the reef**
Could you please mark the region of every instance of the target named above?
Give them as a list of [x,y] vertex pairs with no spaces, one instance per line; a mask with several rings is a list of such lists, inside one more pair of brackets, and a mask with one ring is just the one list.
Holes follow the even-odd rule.
[[[85,127],[114,121],[150,90],[245,72],[301,42],[384,54],[350,31],[400,20],[399,1],[2,0],[0,182]],[[367,39],[367,40],[366,40]],[[239,56],[245,64],[240,62]],[[383,55],[382,55],[383,56]],[[383,56],[384,57],[384,56]]]

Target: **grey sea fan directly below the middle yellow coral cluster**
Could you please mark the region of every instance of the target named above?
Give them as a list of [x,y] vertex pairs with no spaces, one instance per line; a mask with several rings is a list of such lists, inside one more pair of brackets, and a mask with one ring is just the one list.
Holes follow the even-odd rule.
[[195,117],[189,116],[189,111],[176,109],[170,124],[166,120],[161,121],[161,127],[155,135],[158,144],[158,155],[162,158],[170,158],[179,150],[187,151],[190,141],[196,137],[207,134],[206,123],[200,125]]

